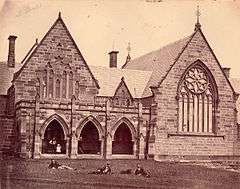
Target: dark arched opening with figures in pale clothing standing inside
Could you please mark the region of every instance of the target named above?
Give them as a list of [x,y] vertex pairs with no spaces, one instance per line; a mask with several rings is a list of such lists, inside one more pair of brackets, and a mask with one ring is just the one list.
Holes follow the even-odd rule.
[[45,154],[66,154],[66,140],[64,131],[57,120],[51,121],[44,133],[42,153]]

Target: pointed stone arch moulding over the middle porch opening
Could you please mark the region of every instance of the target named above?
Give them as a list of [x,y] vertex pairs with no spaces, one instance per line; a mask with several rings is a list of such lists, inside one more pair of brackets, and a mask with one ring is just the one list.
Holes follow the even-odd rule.
[[76,129],[76,137],[79,138],[80,134],[84,128],[84,126],[88,123],[88,122],[92,122],[95,127],[98,130],[98,134],[99,134],[99,139],[101,140],[102,137],[104,136],[104,129],[102,127],[102,125],[99,123],[99,121],[92,115],[86,117],[83,121],[81,121]]

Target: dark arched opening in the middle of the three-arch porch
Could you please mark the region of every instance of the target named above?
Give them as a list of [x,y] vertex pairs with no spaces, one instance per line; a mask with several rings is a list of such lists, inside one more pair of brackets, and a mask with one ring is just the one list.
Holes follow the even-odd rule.
[[78,154],[100,154],[101,141],[99,140],[99,133],[91,121],[84,125],[79,140],[78,140]]

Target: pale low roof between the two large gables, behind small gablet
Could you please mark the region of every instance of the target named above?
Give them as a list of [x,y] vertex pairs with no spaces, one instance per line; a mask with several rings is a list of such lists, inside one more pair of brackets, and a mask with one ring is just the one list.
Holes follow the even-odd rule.
[[[124,77],[124,82],[126,83],[133,98],[145,97],[143,92],[152,74],[151,71],[108,68],[100,66],[90,66],[90,69],[100,85],[98,95],[107,97],[114,96],[122,77]],[[151,94],[150,89],[149,93]]]

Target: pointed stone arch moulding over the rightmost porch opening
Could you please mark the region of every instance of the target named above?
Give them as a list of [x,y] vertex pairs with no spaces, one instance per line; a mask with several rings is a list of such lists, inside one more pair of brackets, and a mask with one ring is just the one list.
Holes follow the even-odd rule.
[[114,126],[110,129],[110,135],[112,136],[112,138],[113,138],[113,136],[114,136],[117,128],[118,128],[122,123],[125,123],[125,124],[128,126],[128,128],[130,129],[131,134],[132,134],[132,140],[135,141],[135,140],[136,140],[136,137],[137,137],[137,131],[136,131],[134,125],[131,123],[131,121],[130,121],[128,118],[126,118],[126,117],[123,117],[123,118],[119,119],[119,120],[114,124]]

